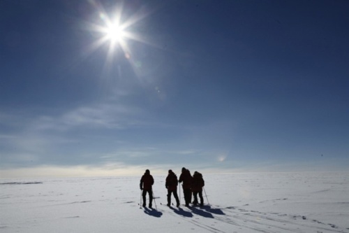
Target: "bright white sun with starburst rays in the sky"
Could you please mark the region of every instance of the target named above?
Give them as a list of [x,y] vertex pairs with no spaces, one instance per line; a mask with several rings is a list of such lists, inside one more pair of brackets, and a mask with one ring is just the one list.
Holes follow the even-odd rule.
[[136,43],[156,46],[150,43],[142,33],[138,31],[139,22],[146,18],[151,10],[144,8],[136,10],[133,14],[126,14],[123,3],[115,5],[110,11],[104,10],[103,6],[91,1],[92,6],[96,7],[96,13],[91,16],[91,21],[87,22],[84,27],[93,36],[91,44],[87,47],[85,56],[94,54],[96,50],[105,50],[105,64],[103,73],[110,73],[117,66],[121,73],[121,59],[126,59],[131,64],[132,69],[137,73],[138,64],[135,59],[135,53],[132,46]]

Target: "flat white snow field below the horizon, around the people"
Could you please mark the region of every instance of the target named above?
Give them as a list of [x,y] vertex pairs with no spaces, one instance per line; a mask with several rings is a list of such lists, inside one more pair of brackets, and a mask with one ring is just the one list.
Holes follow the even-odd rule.
[[0,180],[0,232],[349,232],[348,173],[203,175],[202,208],[166,206],[165,176],[154,209],[140,176]]

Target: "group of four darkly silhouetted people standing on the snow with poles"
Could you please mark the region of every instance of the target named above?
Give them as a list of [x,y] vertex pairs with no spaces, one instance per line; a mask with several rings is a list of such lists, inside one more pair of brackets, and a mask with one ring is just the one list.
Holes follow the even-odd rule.
[[[183,183],[182,187],[186,206],[189,206],[190,203],[193,203],[193,205],[198,205],[198,195],[200,198],[200,206],[204,204],[204,198],[202,197],[202,188],[205,186],[205,181],[202,178],[202,174],[200,174],[198,171],[195,171],[193,176],[191,176],[191,172],[183,167],[181,169],[181,175],[179,176],[179,179],[172,170],[168,170],[168,176],[166,177],[165,181],[165,188],[168,189],[168,206],[171,205],[171,196],[173,194],[174,199],[176,199],[177,202],[177,207],[179,207],[180,202],[177,194],[178,183]],[[153,176],[151,176],[149,169],[147,169],[140,179],[140,189],[143,190],[143,207],[145,207],[147,204],[146,196],[148,193],[149,208],[151,208],[151,204],[153,202],[152,185],[154,185],[154,178]],[[193,202],[192,197],[194,197]]]

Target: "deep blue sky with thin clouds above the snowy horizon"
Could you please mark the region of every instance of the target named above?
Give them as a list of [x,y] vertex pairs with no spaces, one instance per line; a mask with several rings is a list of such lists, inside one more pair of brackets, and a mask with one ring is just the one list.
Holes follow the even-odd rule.
[[0,1],[0,176],[346,171],[348,8]]

